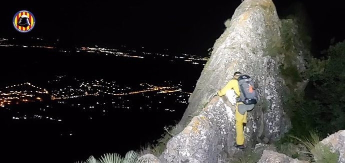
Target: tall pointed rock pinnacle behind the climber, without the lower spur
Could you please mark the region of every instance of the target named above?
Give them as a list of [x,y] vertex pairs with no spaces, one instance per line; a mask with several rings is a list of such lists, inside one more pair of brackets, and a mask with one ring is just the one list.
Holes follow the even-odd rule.
[[290,125],[281,102],[284,87],[278,69],[281,59],[270,50],[281,42],[280,27],[271,0],[244,0],[235,10],[230,26],[216,40],[180,124],[188,124],[233,73],[240,71],[252,76],[259,85],[260,100],[249,114],[247,124],[250,140],[267,143],[286,132]]

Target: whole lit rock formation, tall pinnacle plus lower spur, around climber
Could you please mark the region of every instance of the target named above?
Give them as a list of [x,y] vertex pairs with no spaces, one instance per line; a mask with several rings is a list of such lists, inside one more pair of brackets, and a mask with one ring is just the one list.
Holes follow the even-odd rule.
[[[239,152],[233,147],[234,107],[225,97],[214,97],[235,71],[249,74],[259,85],[259,102],[244,127],[244,145],[270,143],[289,129],[282,108],[286,86],[279,71],[284,57],[272,50],[280,46],[280,28],[271,0],[244,0],[237,7],[189,98],[179,123],[185,128],[167,143],[159,157],[162,163],[223,163]],[[298,65],[302,71],[303,64]]]

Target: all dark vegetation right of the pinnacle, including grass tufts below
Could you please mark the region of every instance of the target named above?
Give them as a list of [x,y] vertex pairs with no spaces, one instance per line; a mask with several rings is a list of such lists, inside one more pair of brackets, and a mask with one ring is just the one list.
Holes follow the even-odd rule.
[[[292,124],[290,131],[276,142],[276,147],[292,158],[331,163],[336,161],[336,154],[318,142],[345,129],[345,96],[342,95],[345,91],[342,83],[345,79],[345,40],[334,43],[332,39],[328,49],[315,52],[307,16],[302,11],[301,5],[295,5],[294,14],[283,18],[282,46],[276,50],[285,56],[280,72],[288,87],[284,109]],[[296,32],[291,32],[293,30]],[[300,50],[306,62],[303,72],[296,68]],[[299,87],[303,81],[306,81],[305,88]]]

